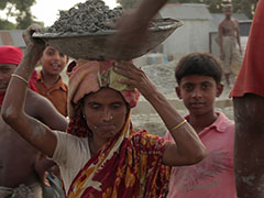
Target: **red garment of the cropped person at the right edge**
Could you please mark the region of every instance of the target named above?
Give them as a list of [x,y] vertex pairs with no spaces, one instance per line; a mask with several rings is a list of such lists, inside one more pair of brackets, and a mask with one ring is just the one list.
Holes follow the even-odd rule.
[[260,0],[254,14],[245,57],[230,97],[255,94],[264,97],[264,0]]

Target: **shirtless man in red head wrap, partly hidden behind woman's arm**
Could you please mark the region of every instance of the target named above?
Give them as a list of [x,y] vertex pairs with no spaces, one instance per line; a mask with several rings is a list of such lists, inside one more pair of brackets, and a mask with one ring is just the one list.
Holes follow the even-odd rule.
[[[22,59],[22,51],[14,46],[0,46],[0,109],[11,74]],[[19,97],[19,96],[16,96]],[[28,90],[25,112],[53,129],[65,131],[67,120],[52,103],[33,90]],[[40,152],[15,133],[0,117],[0,197],[41,198],[42,189],[35,166]],[[43,165],[44,166],[44,165]]]

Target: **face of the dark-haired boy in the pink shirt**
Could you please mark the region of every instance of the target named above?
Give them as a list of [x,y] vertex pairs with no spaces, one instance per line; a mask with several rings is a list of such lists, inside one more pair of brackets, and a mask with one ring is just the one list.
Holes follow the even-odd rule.
[[212,77],[191,75],[182,78],[176,92],[190,114],[202,116],[213,111],[215,99],[221,95],[222,89],[223,86],[217,85]]

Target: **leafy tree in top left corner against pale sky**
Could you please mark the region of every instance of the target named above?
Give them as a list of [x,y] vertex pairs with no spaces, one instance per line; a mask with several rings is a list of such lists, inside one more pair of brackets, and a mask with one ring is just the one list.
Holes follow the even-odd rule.
[[[7,19],[0,19],[1,29],[26,29],[34,22],[31,7],[35,0],[1,0],[0,10],[7,11]],[[15,19],[15,24],[10,22],[10,18]]]

